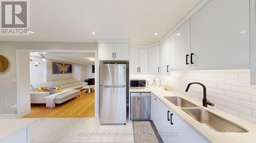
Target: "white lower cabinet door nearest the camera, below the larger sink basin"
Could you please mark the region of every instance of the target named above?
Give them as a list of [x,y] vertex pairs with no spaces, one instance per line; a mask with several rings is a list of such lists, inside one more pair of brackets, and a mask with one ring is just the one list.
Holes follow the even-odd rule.
[[[202,136],[197,130],[188,125],[183,119],[176,115],[172,110],[170,112],[173,113],[172,122],[173,125],[170,126],[170,130],[174,133],[171,136],[172,142],[175,143],[197,143],[197,142],[209,142],[204,136]],[[178,134],[176,134],[178,133]]]

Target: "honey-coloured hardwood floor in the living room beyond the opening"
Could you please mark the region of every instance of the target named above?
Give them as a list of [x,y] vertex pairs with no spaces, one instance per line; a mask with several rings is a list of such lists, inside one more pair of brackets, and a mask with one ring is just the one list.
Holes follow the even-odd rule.
[[86,90],[55,108],[47,108],[46,104],[32,104],[30,115],[24,118],[85,118],[94,117],[94,93],[86,94]]

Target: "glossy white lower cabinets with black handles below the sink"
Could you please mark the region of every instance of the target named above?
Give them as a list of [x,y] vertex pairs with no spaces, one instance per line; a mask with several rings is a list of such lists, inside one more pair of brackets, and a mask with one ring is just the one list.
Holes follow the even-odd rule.
[[202,143],[209,142],[197,130],[188,125],[183,119],[166,106],[159,98],[151,93],[152,115],[151,119],[155,124],[158,133],[164,143]]

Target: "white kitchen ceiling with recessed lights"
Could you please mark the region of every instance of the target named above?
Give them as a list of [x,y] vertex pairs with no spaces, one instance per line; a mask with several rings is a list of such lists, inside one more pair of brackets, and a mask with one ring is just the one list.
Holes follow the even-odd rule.
[[[0,36],[0,40],[97,42],[99,39],[130,39],[132,45],[148,45],[164,37],[199,1],[33,0],[30,1],[30,29],[36,34]],[[154,36],[155,32],[159,34]]]

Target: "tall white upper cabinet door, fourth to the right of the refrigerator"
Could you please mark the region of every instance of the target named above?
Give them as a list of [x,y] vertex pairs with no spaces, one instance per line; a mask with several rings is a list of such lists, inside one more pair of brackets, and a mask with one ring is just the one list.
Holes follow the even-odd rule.
[[160,44],[160,72],[163,75],[169,73],[170,51],[169,51],[169,37]]

